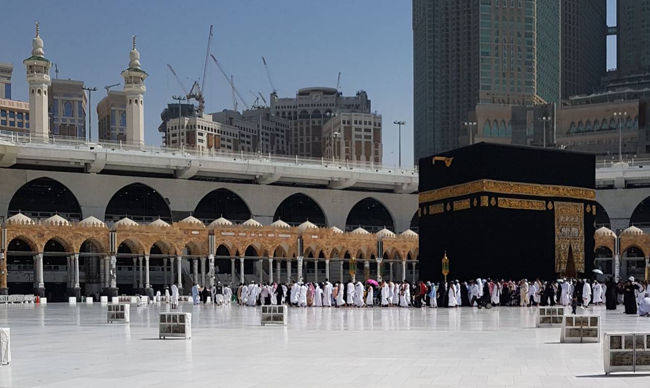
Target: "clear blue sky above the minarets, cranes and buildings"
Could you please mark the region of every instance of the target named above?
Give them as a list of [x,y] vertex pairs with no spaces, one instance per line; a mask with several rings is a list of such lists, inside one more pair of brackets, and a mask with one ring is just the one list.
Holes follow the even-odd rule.
[[[432,0],[433,1],[433,0]],[[608,21],[616,22],[615,0],[608,0]],[[26,100],[23,59],[29,57],[34,20],[41,23],[45,56],[59,66],[59,78],[78,79],[94,105],[104,85],[122,81],[131,34],[138,35],[142,68],[149,73],[145,95],[146,143],[161,143],[157,132],[163,107],[181,94],[166,64],[174,66],[185,86],[203,74],[209,25],[214,25],[212,53],[235,76],[248,104],[248,90],[270,92],[261,56],[265,56],[280,96],[294,96],[309,86],[335,87],[342,73],[343,93],[367,90],[372,109],[382,113],[384,161],[396,163],[402,127],[402,162],[413,158],[413,41],[410,0],[220,0],[220,1],[7,1],[0,42],[0,62],[14,63],[12,94]],[[10,32],[10,33],[8,33]],[[611,38],[608,42],[612,42]],[[615,43],[614,43],[615,44]],[[615,46],[608,47],[608,68],[616,67]],[[232,106],[231,89],[209,63],[206,111]],[[241,106],[241,104],[240,104]]]

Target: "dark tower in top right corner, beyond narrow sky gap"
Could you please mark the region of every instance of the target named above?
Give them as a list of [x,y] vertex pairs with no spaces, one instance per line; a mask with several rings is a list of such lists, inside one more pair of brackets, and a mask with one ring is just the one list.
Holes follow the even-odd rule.
[[650,71],[650,4],[616,2],[616,65],[619,77]]

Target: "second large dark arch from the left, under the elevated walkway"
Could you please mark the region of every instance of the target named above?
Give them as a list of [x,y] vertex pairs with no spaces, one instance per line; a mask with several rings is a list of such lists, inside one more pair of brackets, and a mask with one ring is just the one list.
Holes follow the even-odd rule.
[[133,183],[116,191],[106,206],[105,221],[129,217],[137,223],[149,223],[157,218],[172,222],[168,202],[155,189]]

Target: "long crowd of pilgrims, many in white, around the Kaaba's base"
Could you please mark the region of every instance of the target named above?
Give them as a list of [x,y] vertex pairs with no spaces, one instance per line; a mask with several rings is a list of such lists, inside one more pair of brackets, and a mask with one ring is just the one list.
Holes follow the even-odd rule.
[[229,303],[230,296],[246,306],[289,304],[295,307],[493,307],[493,306],[554,306],[563,305],[587,308],[589,305],[606,305],[616,310],[625,306],[626,314],[650,313],[650,290],[646,281],[607,281],[572,278],[543,281],[522,279],[493,281],[476,279],[469,282],[450,281],[435,285],[418,281],[393,282],[374,280],[330,283],[291,284],[251,282],[240,283],[236,290],[216,284],[202,291],[192,287],[194,302],[203,303],[211,296],[213,303]]

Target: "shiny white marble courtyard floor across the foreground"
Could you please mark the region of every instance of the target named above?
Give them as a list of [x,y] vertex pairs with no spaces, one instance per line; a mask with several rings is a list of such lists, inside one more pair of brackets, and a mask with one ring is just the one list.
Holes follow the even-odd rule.
[[[289,309],[287,327],[259,308],[194,306],[192,339],[159,340],[157,313],[131,306],[0,305],[12,364],[0,387],[626,387],[650,375],[604,376],[601,344],[560,344],[534,309]],[[603,331],[647,331],[650,320],[605,313]]]

